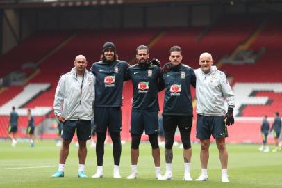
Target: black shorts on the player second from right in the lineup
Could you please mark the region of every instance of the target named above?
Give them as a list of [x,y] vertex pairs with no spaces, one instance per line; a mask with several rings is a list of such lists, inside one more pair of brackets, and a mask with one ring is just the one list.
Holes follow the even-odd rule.
[[192,124],[193,124],[192,116],[163,115],[163,130],[165,134],[167,133],[175,134],[176,128],[179,127],[179,132],[181,134],[190,135]]

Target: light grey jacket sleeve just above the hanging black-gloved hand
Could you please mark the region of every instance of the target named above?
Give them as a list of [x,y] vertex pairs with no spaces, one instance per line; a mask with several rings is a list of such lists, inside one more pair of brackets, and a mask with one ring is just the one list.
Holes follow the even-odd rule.
[[220,85],[222,87],[222,94],[226,98],[228,107],[234,108],[235,107],[235,98],[231,86],[229,85],[229,81],[226,78],[226,75],[221,72],[220,77]]

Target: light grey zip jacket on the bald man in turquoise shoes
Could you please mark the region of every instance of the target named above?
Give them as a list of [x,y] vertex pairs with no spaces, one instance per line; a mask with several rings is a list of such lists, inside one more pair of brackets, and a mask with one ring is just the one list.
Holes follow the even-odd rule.
[[62,75],[53,104],[55,115],[62,115],[66,120],[91,120],[95,99],[94,84],[95,77],[88,70],[85,70],[82,92],[76,68]]

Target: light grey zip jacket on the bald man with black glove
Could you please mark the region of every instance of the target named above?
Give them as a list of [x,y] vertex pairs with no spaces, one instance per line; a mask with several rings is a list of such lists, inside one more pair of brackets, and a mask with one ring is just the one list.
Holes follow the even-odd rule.
[[235,107],[234,94],[224,72],[212,66],[208,74],[201,68],[194,70],[196,81],[197,113],[205,116],[224,116],[228,107]]

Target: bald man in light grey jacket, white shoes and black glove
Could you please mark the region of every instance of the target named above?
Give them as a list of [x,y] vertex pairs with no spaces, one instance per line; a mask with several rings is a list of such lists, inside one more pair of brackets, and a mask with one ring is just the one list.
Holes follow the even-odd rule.
[[[210,136],[216,140],[219,159],[222,164],[222,182],[229,182],[227,175],[228,153],[225,138],[228,136],[226,125],[233,125],[234,95],[224,72],[213,65],[213,58],[208,53],[199,58],[201,68],[194,70],[197,77],[197,138],[201,141],[201,175],[197,181],[208,180],[208,157]],[[224,107],[224,100],[228,104],[228,112]],[[224,119],[226,118],[226,123]]]

